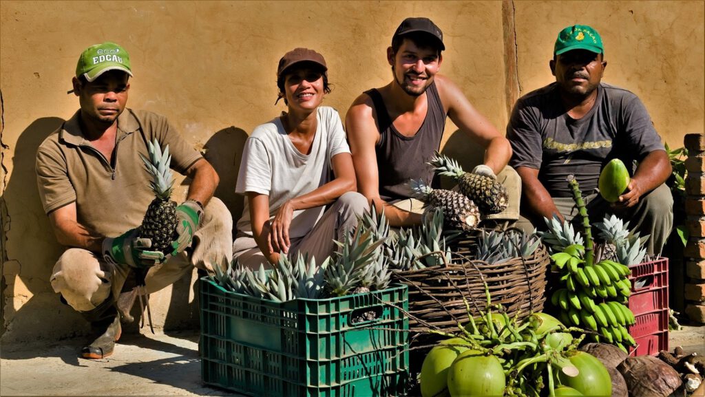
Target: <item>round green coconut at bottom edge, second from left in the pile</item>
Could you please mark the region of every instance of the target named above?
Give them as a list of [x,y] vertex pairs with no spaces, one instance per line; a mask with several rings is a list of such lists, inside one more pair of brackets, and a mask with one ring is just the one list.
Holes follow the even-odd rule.
[[448,391],[453,397],[503,396],[504,369],[494,355],[467,350],[448,369]]

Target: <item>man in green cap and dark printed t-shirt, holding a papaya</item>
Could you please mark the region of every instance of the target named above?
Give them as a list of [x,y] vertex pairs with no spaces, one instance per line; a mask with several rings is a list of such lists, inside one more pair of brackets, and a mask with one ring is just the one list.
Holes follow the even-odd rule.
[[[615,214],[650,236],[647,250],[661,252],[673,226],[673,197],[664,184],[671,168],[661,138],[635,94],[601,83],[607,66],[602,39],[586,25],[560,31],[550,61],[556,83],[517,101],[507,127],[514,166],[522,178],[526,229],[556,215],[577,214],[566,177],[575,175],[591,221]],[[602,167],[618,158],[632,178],[618,202],[599,196]],[[635,168],[633,164],[638,164]]]

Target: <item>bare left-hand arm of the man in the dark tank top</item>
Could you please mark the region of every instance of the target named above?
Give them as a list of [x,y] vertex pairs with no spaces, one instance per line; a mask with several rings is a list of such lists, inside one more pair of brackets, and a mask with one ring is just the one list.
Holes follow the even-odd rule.
[[378,213],[384,211],[384,216],[391,226],[420,224],[422,221],[420,214],[403,211],[379,197],[379,171],[374,151],[379,130],[372,114],[372,99],[366,94],[357,97],[350,106],[345,116],[345,130],[348,132],[350,152],[353,154],[357,191],[367,197],[370,205],[374,204]]

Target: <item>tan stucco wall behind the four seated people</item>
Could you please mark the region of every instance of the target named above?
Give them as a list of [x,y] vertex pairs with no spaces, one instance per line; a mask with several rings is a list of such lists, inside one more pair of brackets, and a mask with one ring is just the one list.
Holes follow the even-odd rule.
[[[388,82],[385,50],[407,16],[428,16],[441,27],[447,47],[441,72],[502,131],[512,81],[522,94],[549,83],[556,33],[578,22],[600,30],[609,61],[605,80],[634,90],[663,138],[680,146],[685,133],[703,131],[701,1],[2,1],[4,340],[63,338],[86,329],[49,286],[62,248],[39,204],[34,173],[39,143],[78,108],[66,90],[82,49],[112,40],[130,51],[135,78],[128,106],[168,116],[189,142],[206,148],[221,176],[217,193],[236,208],[235,147],[284,109],[274,106],[281,55],[293,47],[324,54],[333,83],[326,104],[344,117],[362,90]],[[516,56],[505,56],[514,44]],[[449,121],[453,152],[476,152],[456,129]],[[182,187],[177,197],[184,194]],[[192,280],[152,296],[156,324],[190,324],[197,312]]]

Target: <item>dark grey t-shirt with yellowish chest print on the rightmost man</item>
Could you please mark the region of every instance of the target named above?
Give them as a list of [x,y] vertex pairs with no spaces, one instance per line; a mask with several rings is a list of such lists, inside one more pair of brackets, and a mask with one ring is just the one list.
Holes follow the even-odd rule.
[[634,161],[664,149],[635,94],[605,83],[597,90],[595,106],[579,120],[568,116],[556,83],[529,92],[514,106],[507,126],[510,166],[539,169],[551,197],[571,197],[568,175],[588,194],[607,161],[618,158],[632,169]]

